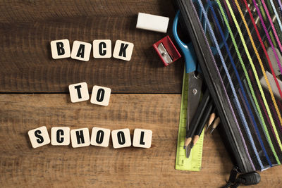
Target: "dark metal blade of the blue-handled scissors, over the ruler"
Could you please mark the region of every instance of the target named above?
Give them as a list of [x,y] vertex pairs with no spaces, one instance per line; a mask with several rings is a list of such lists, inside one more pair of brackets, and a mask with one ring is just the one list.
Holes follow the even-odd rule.
[[187,105],[187,122],[186,126],[189,129],[190,122],[195,115],[197,107],[199,105],[201,89],[202,89],[202,78],[195,72],[189,73],[188,75],[188,105]]

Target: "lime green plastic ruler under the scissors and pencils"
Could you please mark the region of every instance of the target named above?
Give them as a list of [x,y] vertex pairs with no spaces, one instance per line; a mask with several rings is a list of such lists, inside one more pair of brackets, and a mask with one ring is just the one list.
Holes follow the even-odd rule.
[[176,151],[176,170],[200,171],[202,166],[202,149],[204,143],[204,130],[200,135],[197,144],[192,148],[190,157],[186,158],[185,149],[183,149],[186,137],[186,118],[188,104],[188,74],[183,73],[183,86],[181,95],[180,120],[178,130],[178,141]]

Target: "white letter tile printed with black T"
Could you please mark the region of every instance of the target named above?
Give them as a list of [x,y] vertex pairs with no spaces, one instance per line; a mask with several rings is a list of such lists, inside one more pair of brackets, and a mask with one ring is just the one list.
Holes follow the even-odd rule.
[[86,82],[70,84],[68,86],[71,95],[71,102],[81,102],[89,100],[88,87]]

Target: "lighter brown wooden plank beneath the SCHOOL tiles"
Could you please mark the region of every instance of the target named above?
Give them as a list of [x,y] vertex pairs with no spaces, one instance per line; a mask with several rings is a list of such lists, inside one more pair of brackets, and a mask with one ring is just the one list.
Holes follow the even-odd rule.
[[[180,94],[112,94],[106,107],[71,104],[68,94],[0,94],[0,106],[2,187],[219,187],[232,168],[215,132],[204,138],[200,172],[175,170]],[[149,129],[152,147],[32,149],[27,131],[39,126]]]

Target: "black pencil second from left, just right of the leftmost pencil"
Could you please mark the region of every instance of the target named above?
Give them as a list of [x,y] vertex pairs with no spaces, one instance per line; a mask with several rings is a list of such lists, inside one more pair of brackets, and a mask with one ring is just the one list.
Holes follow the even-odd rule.
[[209,119],[209,114],[212,112],[212,108],[214,108],[213,101],[209,100],[209,104],[207,104],[207,108],[204,109],[204,114],[200,118],[201,119],[200,124],[197,126],[197,129],[195,131],[195,135],[191,143],[191,148],[199,140],[202,130],[204,130],[204,125],[206,124],[207,120]]

